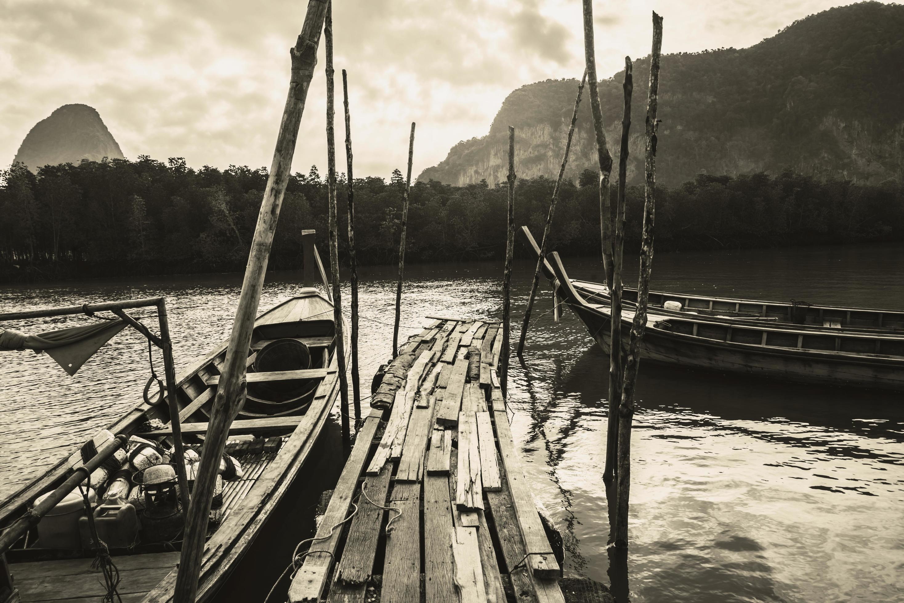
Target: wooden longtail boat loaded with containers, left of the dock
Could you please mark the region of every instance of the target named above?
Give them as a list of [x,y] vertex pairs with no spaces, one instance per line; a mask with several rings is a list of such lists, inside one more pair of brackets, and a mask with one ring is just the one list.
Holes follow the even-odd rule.
[[[325,282],[322,267],[321,276]],[[255,320],[247,350],[247,399],[231,423],[216,482],[197,601],[210,600],[221,587],[312,457],[339,394],[333,312],[327,296],[305,286]],[[176,378],[190,479],[194,467],[190,463],[198,459],[203,445],[226,351],[223,342]],[[101,527],[113,527],[101,539],[106,540],[116,568],[116,590],[122,600],[171,600],[185,511],[173,465],[167,464],[172,439],[168,406],[148,404],[145,397],[80,450],[2,501],[0,526],[21,522],[32,513],[35,499],[65,487],[75,468],[92,468],[92,454],[118,449],[90,471],[90,482],[72,489],[0,556],[0,570],[11,587],[5,593],[0,590],[0,601],[99,601],[111,594],[103,568],[94,567],[98,552],[89,544],[90,534],[80,537],[72,530],[72,522],[81,521],[84,530],[88,520],[82,493],[91,498],[98,534]],[[157,479],[160,475],[163,481]],[[188,485],[191,491],[193,481]],[[115,500],[114,488],[119,488]],[[95,506],[94,501],[100,504]],[[115,516],[104,515],[105,506]],[[105,519],[110,523],[102,526]]]

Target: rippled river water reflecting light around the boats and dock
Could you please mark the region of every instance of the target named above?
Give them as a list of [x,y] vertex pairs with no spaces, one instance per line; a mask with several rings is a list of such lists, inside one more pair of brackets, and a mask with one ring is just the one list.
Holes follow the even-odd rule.
[[[573,277],[601,278],[595,260],[566,264]],[[636,265],[636,258],[626,258],[626,274],[635,275]],[[532,264],[515,263],[515,332],[531,271]],[[418,332],[431,313],[499,319],[502,272],[498,263],[408,266],[402,334]],[[654,259],[656,289],[895,309],[904,308],[901,274],[900,246],[673,253]],[[394,278],[388,266],[361,270],[365,390],[390,356]],[[299,281],[300,274],[269,275],[261,308],[291,295]],[[904,600],[899,394],[643,364],[632,438],[631,547],[626,567],[619,562],[610,567],[601,479],[607,357],[570,311],[553,323],[551,292],[542,284],[523,363],[513,358],[510,405],[533,492],[564,537],[567,574],[611,584],[620,601]],[[178,370],[228,336],[239,289],[240,274],[6,286],[0,288],[0,309],[164,295]],[[345,296],[347,301],[347,288]],[[36,320],[15,327],[40,332],[87,320]],[[150,317],[148,322],[154,324]],[[0,325],[5,326],[12,325]],[[156,353],[155,363],[162,370]],[[111,340],[74,377],[46,355],[0,358],[0,497],[135,404],[148,375],[146,345],[131,330]],[[331,435],[338,432],[337,423],[334,416]],[[339,468],[332,462],[317,470],[316,483],[329,487]],[[309,523],[298,533],[310,531]],[[264,578],[273,574],[263,593],[285,567],[285,550],[293,543],[272,549],[278,558],[259,559],[266,561],[259,566],[269,568]]]

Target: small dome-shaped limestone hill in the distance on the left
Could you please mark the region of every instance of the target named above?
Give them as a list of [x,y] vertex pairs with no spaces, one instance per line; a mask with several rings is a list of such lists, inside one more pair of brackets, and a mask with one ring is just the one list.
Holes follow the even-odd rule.
[[15,162],[32,172],[44,165],[125,159],[119,145],[94,107],[63,105],[34,125],[25,136]]

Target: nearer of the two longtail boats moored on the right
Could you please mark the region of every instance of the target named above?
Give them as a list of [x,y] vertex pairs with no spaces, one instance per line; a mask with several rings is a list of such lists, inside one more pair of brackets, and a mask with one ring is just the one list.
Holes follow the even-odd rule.
[[[607,353],[610,349],[608,304],[591,303],[570,281],[558,254],[550,255],[552,281]],[[641,344],[644,362],[729,371],[786,381],[904,389],[904,335],[837,329],[792,329],[767,323],[732,324],[707,316],[654,313],[646,320]],[[628,332],[634,311],[622,313]],[[629,338],[622,339],[627,352]]]

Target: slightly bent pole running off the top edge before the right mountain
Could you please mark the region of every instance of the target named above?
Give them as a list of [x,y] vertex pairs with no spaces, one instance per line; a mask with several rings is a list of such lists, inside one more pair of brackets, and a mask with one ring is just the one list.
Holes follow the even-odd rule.
[[612,223],[613,213],[609,207],[609,176],[612,173],[612,155],[606,144],[603,129],[603,109],[599,105],[596,49],[593,42],[593,0],[584,2],[584,60],[587,62],[590,110],[593,113],[593,132],[597,138],[597,159],[599,162],[599,236],[603,248],[603,268],[606,270],[606,284],[612,286]]

